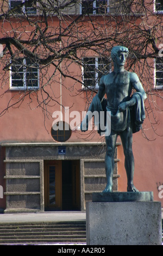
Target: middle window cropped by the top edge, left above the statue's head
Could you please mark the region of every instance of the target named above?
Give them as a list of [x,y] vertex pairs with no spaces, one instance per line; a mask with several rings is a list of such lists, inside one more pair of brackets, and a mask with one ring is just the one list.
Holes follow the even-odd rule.
[[108,13],[108,0],[83,0],[82,13],[104,14]]

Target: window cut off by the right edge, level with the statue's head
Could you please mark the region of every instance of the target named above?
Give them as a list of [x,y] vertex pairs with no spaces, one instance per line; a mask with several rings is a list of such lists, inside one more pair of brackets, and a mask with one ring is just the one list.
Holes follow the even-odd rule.
[[155,88],[163,89],[163,62],[160,59],[155,60]]

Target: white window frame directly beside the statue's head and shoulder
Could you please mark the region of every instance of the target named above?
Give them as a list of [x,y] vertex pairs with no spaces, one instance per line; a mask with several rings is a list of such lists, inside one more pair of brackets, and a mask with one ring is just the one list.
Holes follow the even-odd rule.
[[[84,58],[90,58],[90,59],[92,59],[92,58],[95,58],[95,81],[96,81],[96,83],[95,83],[95,89],[98,89],[99,88],[99,85],[98,85],[98,82],[97,82],[97,78],[98,78],[98,72],[96,72],[96,70],[98,70],[98,59],[99,58],[101,58],[101,57],[99,57],[99,56],[97,56],[97,57],[91,57],[91,56],[89,56],[89,57],[83,57],[83,59]],[[110,64],[110,69],[109,69],[109,72],[111,73],[111,64]],[[93,88],[93,86],[89,86],[89,88]],[[84,86],[84,66],[82,66],[82,89],[87,89],[85,86]]]

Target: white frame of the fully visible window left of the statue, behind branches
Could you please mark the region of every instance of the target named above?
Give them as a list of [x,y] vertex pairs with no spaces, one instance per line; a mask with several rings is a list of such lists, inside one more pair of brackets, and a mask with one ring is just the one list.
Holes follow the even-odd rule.
[[[23,59],[23,65],[26,66],[26,59]],[[36,67],[34,67],[36,68]],[[32,86],[29,87],[27,85],[26,82],[26,75],[27,75],[27,71],[26,68],[23,67],[23,79],[22,79],[22,83],[23,86],[12,86],[12,66],[10,66],[10,90],[34,90],[34,89],[38,89],[40,87],[40,72],[39,72],[39,65],[37,65],[37,86]]]

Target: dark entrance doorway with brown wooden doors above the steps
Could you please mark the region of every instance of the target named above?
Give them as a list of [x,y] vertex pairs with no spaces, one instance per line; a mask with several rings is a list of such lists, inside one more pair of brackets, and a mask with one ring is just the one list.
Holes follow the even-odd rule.
[[80,210],[79,160],[44,162],[45,211]]

